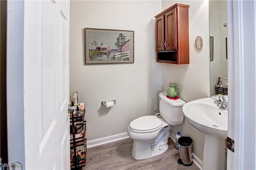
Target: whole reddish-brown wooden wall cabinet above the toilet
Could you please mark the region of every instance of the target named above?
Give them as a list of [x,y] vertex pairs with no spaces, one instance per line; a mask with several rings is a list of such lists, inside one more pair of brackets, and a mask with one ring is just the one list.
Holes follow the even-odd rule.
[[188,5],[175,4],[156,15],[156,61],[189,64]]

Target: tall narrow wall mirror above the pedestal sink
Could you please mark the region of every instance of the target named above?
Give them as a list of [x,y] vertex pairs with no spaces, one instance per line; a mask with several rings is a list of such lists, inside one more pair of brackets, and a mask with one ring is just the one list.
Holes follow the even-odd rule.
[[[227,1],[209,1],[209,23],[210,23],[210,96],[223,94],[217,92],[215,86],[218,85],[218,77],[228,78],[228,57],[226,53],[226,38],[228,36],[227,27]],[[220,78],[218,90],[224,90]],[[219,88],[224,87],[224,88]],[[227,90],[227,89],[226,89]],[[225,94],[227,95],[227,94]]]

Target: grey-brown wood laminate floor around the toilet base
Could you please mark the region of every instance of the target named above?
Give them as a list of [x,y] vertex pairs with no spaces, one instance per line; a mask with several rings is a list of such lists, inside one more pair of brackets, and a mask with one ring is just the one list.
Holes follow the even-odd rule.
[[159,156],[145,160],[132,157],[132,139],[124,139],[87,149],[86,166],[82,170],[199,170],[178,164],[178,152],[174,142],[169,139],[168,150]]

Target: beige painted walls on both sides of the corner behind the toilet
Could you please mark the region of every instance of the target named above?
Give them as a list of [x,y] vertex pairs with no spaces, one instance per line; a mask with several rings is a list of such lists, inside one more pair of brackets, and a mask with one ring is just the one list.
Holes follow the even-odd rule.
[[[190,5],[190,64],[156,63],[155,18],[175,3]],[[102,20],[102,18],[105,18]],[[84,27],[134,30],[134,64],[84,65]],[[204,47],[196,51],[194,40]],[[178,96],[189,102],[210,95],[208,1],[71,1],[70,96],[78,91],[86,103],[86,136],[98,139],[127,131],[133,119],[158,109],[158,94],[168,82],[180,86]],[[111,109],[102,100],[117,103]],[[202,160],[204,134],[184,119],[173,133],[193,139],[193,152]]]

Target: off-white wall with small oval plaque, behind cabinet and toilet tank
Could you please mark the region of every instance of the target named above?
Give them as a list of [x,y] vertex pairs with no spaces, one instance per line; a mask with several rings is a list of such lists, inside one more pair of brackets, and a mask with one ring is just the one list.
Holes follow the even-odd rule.
[[[180,3],[190,5],[189,8],[189,42],[190,64],[162,64],[163,90],[167,90],[169,82],[180,86],[178,96],[185,102],[210,96],[210,44],[209,44],[209,2],[191,0],[162,1],[162,10]],[[196,51],[194,41],[200,35],[204,40],[204,47]],[[192,151],[203,160],[204,134],[196,130],[184,119],[180,126],[173,126],[172,132],[180,131],[181,136],[189,136],[193,140]]]

